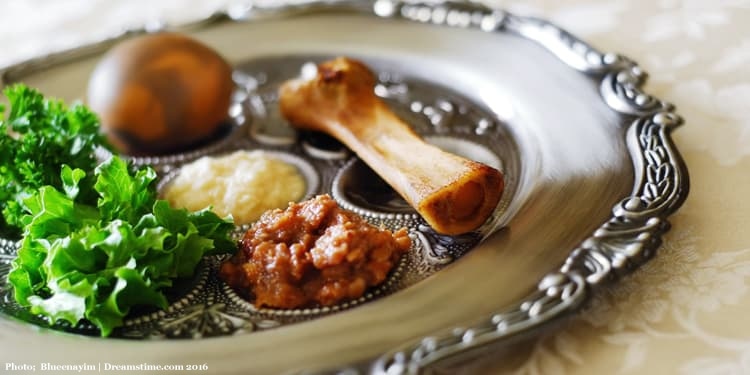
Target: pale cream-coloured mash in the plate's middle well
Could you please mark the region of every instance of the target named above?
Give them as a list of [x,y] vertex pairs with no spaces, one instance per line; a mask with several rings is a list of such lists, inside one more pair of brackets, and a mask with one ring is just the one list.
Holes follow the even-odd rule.
[[274,208],[298,201],[305,179],[297,168],[264,151],[205,156],[180,168],[164,197],[175,207],[206,207],[236,224],[249,224]]

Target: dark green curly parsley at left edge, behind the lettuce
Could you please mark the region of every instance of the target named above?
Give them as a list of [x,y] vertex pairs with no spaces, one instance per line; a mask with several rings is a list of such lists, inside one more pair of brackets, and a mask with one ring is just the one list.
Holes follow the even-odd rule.
[[[109,146],[96,115],[83,105],[68,107],[22,84],[4,94],[9,107],[0,106],[0,231],[15,238],[23,227],[25,197],[42,186],[63,189],[63,164],[86,171],[84,182],[93,180],[94,151]],[[97,198],[92,184],[82,184],[79,202],[96,204]]]

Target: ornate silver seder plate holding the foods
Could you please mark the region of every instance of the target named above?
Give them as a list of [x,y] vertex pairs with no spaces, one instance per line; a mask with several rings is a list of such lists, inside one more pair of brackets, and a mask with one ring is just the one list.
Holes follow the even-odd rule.
[[[217,279],[221,259],[206,258],[169,291],[167,310],[134,313],[107,339],[87,337],[96,332],[85,324],[41,328],[0,285],[0,337],[17,343],[3,350],[8,361],[36,361],[42,349],[53,363],[177,361],[212,372],[445,366],[532,337],[648,261],[687,194],[670,138],[681,119],[642,90],[646,74],[544,20],[457,3],[305,2],[233,8],[180,30],[235,66],[231,131],[134,162],[154,165],[163,187],[202,155],[268,150],[298,166],[308,195],[408,226],[412,250],[362,299],[299,310],[255,308]],[[9,67],[0,83],[78,99],[101,54],[127,37]],[[479,231],[437,235],[350,151],[280,119],[278,84],[337,55],[370,65],[376,93],[429,142],[504,172],[501,203]],[[4,276],[15,249],[0,245]]]

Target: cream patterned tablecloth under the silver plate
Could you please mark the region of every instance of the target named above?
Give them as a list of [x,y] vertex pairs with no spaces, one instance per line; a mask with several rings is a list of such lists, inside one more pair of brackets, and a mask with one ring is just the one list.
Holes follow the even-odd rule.
[[[267,1],[270,2],[270,1]],[[691,176],[658,255],[563,327],[466,373],[750,373],[750,1],[489,0],[549,19],[650,73],[674,103]],[[0,66],[144,24],[180,23],[226,0],[5,0]],[[240,5],[241,6],[241,5]]]

